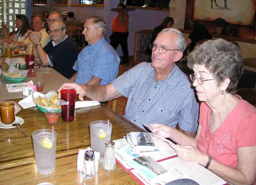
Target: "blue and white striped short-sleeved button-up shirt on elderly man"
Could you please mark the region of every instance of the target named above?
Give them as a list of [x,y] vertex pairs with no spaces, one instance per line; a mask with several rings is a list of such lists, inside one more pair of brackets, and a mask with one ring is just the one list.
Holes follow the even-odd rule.
[[151,63],[140,63],[112,82],[118,93],[128,98],[124,117],[143,128],[165,124],[194,132],[198,103],[188,77],[176,66],[164,81],[155,80]]

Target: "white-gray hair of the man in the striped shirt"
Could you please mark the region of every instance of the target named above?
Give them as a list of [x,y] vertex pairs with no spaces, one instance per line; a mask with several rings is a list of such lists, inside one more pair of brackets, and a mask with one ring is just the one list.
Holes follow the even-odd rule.
[[179,51],[181,51],[181,52],[183,52],[185,50],[185,48],[186,48],[186,39],[185,39],[183,33],[180,32],[180,30],[178,30],[176,28],[165,28],[161,32],[175,33],[177,38],[176,38],[176,41],[175,41],[174,45],[176,47],[178,47]]

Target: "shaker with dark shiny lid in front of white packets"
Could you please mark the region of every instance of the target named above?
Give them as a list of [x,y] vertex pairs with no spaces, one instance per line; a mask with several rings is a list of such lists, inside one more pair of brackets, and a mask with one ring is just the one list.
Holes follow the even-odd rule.
[[86,179],[92,179],[94,174],[94,152],[92,150],[87,150],[84,154],[84,168],[82,175]]

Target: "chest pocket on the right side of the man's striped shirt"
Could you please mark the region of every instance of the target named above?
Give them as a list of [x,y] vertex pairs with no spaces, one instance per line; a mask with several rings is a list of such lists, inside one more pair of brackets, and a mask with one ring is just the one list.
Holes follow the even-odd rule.
[[156,103],[154,105],[153,111],[149,116],[150,123],[168,124],[170,117],[172,115],[172,110],[163,103]]

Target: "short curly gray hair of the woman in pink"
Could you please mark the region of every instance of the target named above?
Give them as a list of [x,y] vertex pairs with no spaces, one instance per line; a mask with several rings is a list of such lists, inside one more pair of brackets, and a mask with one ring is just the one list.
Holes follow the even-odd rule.
[[229,78],[227,93],[236,94],[236,87],[244,70],[241,50],[232,42],[224,39],[207,40],[197,45],[188,54],[188,67],[195,64],[205,65],[218,84]]

